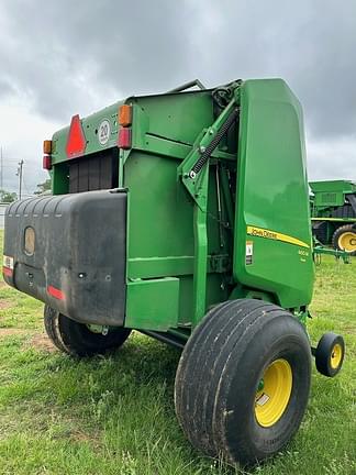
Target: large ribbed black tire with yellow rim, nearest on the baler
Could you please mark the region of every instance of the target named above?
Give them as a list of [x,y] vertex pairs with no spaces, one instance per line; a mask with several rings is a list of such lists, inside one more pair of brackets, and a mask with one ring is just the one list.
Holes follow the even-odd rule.
[[[278,379],[285,369],[288,387],[283,377]],[[276,371],[281,400],[262,389],[263,376],[267,387]],[[262,300],[224,302],[205,316],[185,346],[175,384],[177,417],[191,443],[208,455],[254,464],[276,454],[297,432],[310,378],[310,342],[291,313]],[[281,412],[271,416],[277,419],[266,417],[270,406],[263,417],[264,405],[276,409],[276,400]]]

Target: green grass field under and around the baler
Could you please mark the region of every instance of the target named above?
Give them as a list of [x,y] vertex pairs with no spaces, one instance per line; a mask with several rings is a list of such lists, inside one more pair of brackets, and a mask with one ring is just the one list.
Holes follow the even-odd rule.
[[[309,325],[314,339],[329,330],[344,335],[342,373],[327,379],[313,371],[299,433],[251,473],[356,474],[355,266],[323,258]],[[201,456],[178,427],[178,358],[140,334],[105,357],[69,358],[45,336],[42,305],[0,281],[0,474],[234,473]]]

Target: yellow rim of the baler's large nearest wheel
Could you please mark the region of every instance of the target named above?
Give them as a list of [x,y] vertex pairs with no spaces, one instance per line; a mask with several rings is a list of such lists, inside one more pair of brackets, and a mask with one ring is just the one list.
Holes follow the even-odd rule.
[[267,367],[255,399],[255,416],[260,426],[274,426],[281,418],[290,399],[292,382],[292,371],[286,360],[276,360]]

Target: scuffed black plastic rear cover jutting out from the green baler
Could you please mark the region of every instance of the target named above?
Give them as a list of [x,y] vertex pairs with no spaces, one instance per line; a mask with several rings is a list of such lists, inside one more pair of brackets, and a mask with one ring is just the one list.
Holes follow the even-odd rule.
[[[35,234],[34,252],[31,250]],[[25,245],[26,244],[26,245]],[[122,325],[125,312],[126,192],[30,198],[9,206],[8,284],[74,320]]]

